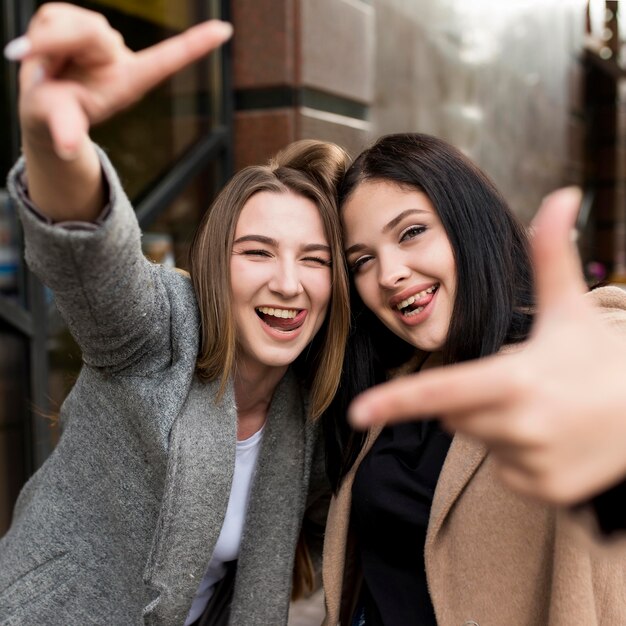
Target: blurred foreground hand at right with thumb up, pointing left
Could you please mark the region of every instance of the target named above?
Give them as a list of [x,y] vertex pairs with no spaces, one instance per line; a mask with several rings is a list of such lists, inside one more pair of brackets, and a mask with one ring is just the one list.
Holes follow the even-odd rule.
[[438,415],[483,440],[514,489],[569,504],[626,473],[626,342],[582,297],[570,233],[580,194],[555,192],[534,221],[538,316],[519,352],[425,371],[373,388],[356,427]]

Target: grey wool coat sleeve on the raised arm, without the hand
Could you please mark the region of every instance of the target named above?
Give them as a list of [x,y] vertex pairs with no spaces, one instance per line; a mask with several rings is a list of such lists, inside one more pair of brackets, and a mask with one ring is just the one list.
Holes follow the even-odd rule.
[[169,301],[162,270],[141,252],[134,210],[106,155],[99,150],[110,204],[99,224],[48,223],[29,206],[23,160],[8,188],[22,221],[30,269],[48,286],[94,368],[133,373],[168,359]]

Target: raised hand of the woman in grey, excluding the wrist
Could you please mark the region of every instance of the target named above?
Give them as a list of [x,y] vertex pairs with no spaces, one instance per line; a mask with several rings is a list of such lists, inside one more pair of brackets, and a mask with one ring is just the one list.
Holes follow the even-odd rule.
[[208,54],[232,34],[211,20],[132,52],[106,19],[65,3],[44,4],[5,56],[22,61],[20,118],[25,141],[76,156],[89,128]]

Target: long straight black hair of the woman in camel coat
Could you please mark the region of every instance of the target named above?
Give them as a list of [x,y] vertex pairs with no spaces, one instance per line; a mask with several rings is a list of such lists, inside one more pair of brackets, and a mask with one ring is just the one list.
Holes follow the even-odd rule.
[[[423,192],[446,231],[456,263],[456,298],[443,363],[494,354],[527,338],[533,285],[524,226],[489,178],[463,153],[429,135],[387,135],[362,152],[339,185],[340,206],[364,181]],[[335,489],[363,436],[346,421],[350,401],[382,382],[415,348],[393,335],[351,286],[352,326],[339,392],[323,416],[327,469]]]

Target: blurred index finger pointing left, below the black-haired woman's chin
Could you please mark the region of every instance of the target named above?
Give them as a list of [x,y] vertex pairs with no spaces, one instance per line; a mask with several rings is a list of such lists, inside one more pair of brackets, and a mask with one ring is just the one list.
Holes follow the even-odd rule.
[[[491,407],[509,397],[514,355],[436,368],[368,389],[350,405],[355,428]],[[521,370],[523,371],[523,370]]]

